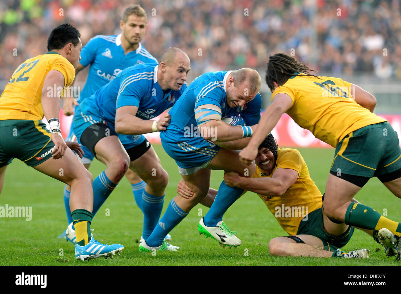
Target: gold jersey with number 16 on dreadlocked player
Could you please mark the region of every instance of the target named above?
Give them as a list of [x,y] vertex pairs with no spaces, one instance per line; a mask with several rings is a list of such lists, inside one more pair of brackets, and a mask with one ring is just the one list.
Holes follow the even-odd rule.
[[340,78],[302,74],[277,87],[271,101],[279,93],[288,94],[292,105],[286,113],[300,127],[336,148],[350,132],[387,121],[356,103],[351,87]]

